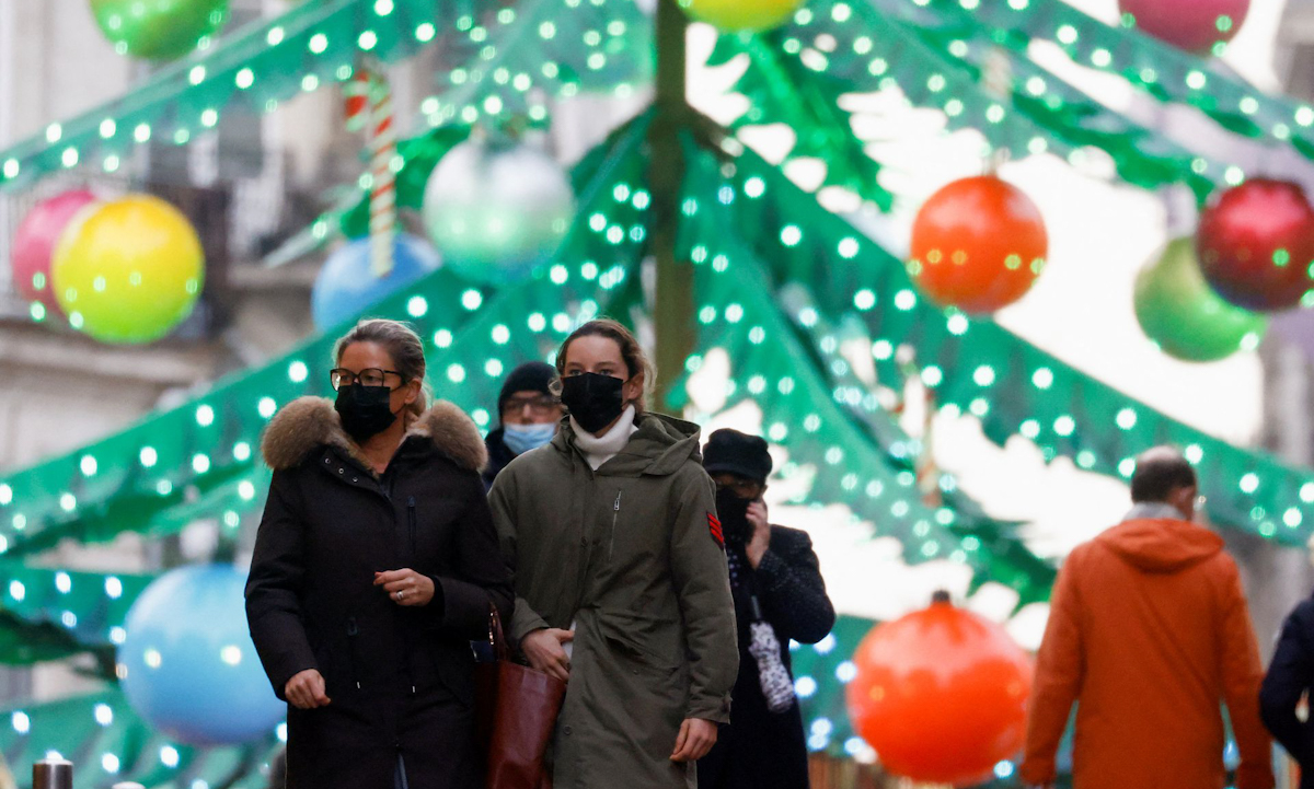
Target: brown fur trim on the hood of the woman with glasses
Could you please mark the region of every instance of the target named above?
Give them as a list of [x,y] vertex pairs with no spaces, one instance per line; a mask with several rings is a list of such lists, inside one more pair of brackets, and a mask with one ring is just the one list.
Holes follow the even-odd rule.
[[[439,452],[468,471],[481,471],[487,465],[487,449],[474,421],[447,400],[415,417],[406,437],[430,438]],[[342,429],[342,417],[328,398],[298,398],[269,421],[260,440],[264,462],[276,471],[292,469],[321,446],[335,446],[360,461],[360,449]],[[369,463],[363,463],[367,469]]]

